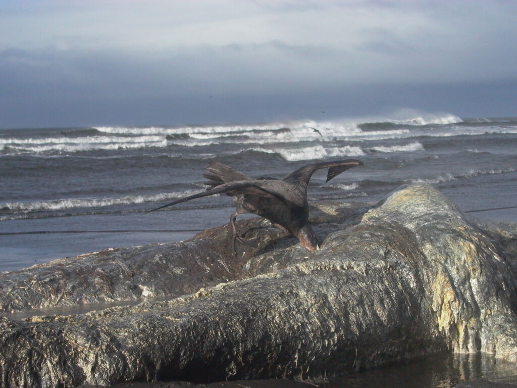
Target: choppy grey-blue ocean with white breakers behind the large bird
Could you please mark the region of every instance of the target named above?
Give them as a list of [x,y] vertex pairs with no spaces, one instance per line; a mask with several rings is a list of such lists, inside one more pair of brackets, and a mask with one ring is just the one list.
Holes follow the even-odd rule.
[[226,223],[233,212],[227,196],[144,215],[204,190],[202,174],[211,160],[249,176],[282,178],[307,163],[340,158],[365,166],[327,184],[325,171],[315,173],[310,201],[377,201],[402,184],[428,182],[463,211],[517,221],[512,117],[4,129],[0,271],[109,247],[185,240]]

